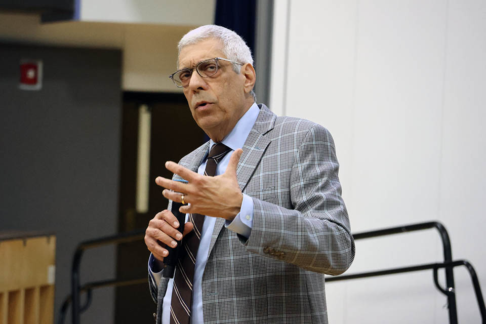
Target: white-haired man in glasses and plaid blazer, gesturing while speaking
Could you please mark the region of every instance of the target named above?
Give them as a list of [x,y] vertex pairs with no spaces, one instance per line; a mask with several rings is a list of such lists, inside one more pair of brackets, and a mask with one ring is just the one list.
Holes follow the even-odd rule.
[[327,323],[324,273],[354,258],[331,135],[257,105],[252,64],[223,27],[196,28],[179,43],[171,78],[211,140],[166,163],[188,183],[155,180],[188,204],[180,211],[189,219],[174,279],[160,270],[166,247],[181,242],[177,219],[162,211],[146,230],[157,323]]

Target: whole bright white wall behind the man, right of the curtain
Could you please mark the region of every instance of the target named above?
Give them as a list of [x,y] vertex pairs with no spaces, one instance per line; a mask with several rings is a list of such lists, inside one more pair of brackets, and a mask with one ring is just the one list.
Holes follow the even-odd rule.
[[[353,232],[439,220],[483,289],[484,30],[481,0],[276,1],[270,94],[333,134]],[[357,241],[348,273],[441,260],[427,230]],[[455,278],[459,321],[479,322],[466,270]],[[326,289],[333,324],[448,322],[431,271]]]

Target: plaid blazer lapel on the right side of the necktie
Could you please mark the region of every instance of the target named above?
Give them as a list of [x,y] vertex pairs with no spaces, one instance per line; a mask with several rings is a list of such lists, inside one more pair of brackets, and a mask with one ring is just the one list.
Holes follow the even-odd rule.
[[[241,191],[245,190],[248,181],[262,159],[263,153],[268,144],[270,144],[270,140],[265,137],[265,134],[273,129],[277,117],[264,104],[258,106],[260,107],[260,112],[242,147],[243,153],[241,153],[238,167],[236,168],[236,178],[238,179],[238,185]],[[224,218],[216,218],[213,234],[211,236],[211,243],[209,245],[208,258],[211,255],[211,251],[213,250],[216,239],[218,238],[219,232],[223,228],[225,221]]]

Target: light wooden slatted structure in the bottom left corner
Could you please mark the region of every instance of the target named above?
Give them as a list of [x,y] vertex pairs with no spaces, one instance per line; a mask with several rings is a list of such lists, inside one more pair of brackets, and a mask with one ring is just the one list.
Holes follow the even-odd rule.
[[0,324],[52,324],[56,236],[0,232]]

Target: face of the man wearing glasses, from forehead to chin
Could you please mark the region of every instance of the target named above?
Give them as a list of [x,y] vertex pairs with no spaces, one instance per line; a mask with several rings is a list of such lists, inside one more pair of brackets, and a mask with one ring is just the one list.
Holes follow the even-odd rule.
[[[179,67],[194,68],[197,63],[215,57],[226,58],[221,41],[210,38],[182,48]],[[248,105],[245,73],[237,74],[232,64],[218,62],[218,72],[201,77],[194,70],[189,85],[183,88],[192,117],[197,125],[215,142],[221,141],[236,125]]]

